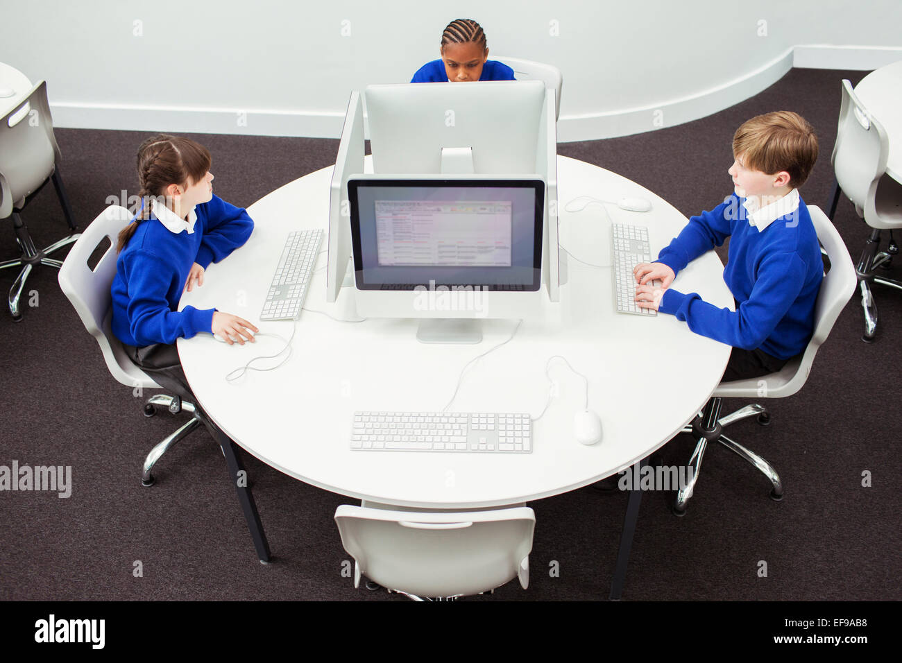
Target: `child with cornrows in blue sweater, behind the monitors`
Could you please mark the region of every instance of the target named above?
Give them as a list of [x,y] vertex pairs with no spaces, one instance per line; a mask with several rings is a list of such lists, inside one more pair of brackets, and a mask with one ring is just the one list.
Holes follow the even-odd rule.
[[442,32],[440,60],[419,68],[411,83],[446,83],[473,80],[514,80],[513,69],[489,60],[485,32],[474,20],[459,18]]

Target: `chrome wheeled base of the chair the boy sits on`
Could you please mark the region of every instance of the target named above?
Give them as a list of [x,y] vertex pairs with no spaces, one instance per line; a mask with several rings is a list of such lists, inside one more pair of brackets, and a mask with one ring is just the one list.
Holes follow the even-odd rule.
[[741,456],[751,465],[757,467],[761,474],[768,477],[771,483],[770,499],[775,502],[779,502],[783,499],[783,483],[780,481],[779,474],[777,474],[777,470],[774,469],[773,465],[770,465],[764,458],[758,456],[746,447],[743,447],[730,437],[723,435],[724,427],[734,424],[737,421],[741,421],[742,419],[749,419],[750,417],[756,417],[759,424],[762,426],[769,425],[770,414],[768,410],[764,406],[752,403],[740,410],[732,412],[732,414],[721,417],[720,411],[722,402],[723,399],[716,396],[713,397],[704,406],[702,413],[693,420],[692,425],[683,428],[683,432],[691,433],[697,442],[695,444],[695,451],[693,451],[692,456],[689,458],[689,465],[693,468],[693,472],[691,473],[686,486],[677,491],[676,501],[671,507],[671,511],[675,516],[686,515],[686,504],[689,502],[689,498],[692,497],[693,491],[695,490],[695,483],[698,481],[698,476],[702,469],[702,458],[704,457],[708,442],[720,443],[723,447],[727,447],[737,456]]

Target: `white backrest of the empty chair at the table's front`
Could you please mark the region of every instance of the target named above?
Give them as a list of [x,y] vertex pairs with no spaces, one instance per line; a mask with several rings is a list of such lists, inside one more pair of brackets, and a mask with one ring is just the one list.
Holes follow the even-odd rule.
[[383,587],[419,596],[479,594],[514,577],[529,585],[536,527],[529,507],[493,511],[389,511],[339,506],[345,550]]

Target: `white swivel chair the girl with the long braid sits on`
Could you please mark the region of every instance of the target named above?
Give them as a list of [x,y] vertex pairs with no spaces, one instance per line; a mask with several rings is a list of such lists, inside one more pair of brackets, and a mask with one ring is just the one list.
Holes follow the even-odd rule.
[[[113,310],[113,295],[110,292],[110,286],[115,276],[117,235],[120,230],[131,223],[133,216],[124,207],[115,205],[107,207],[101,212],[100,216],[97,216],[94,222],[87,226],[85,232],[72,246],[66,261],[62,263],[60,288],[72,302],[72,306],[75,307],[78,317],[81,318],[87,331],[97,340],[97,345],[100,345],[100,351],[106,361],[106,368],[113,377],[133,389],[160,389],[160,385],[154,382],[150,375],[132,363],[125,354],[122,343],[110,330]],[[92,271],[87,260],[100,244],[106,244],[105,239],[111,245],[97,261]],[[193,403],[181,401],[172,396],[152,396],[144,405],[144,414],[151,417],[155,413],[157,405],[169,408],[173,413],[185,410],[193,416],[188,423],[153,447],[151,453],[148,454],[144,461],[141,479],[141,483],[145,486],[153,485],[152,469],[160,456],[201,424]]]

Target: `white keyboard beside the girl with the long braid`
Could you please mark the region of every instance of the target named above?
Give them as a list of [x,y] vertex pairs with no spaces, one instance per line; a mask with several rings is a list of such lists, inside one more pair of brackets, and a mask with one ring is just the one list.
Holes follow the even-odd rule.
[[270,291],[263,302],[261,320],[291,320],[298,317],[307,297],[307,284],[322,241],[321,228],[297,230],[288,235],[279,265],[272,276]]

